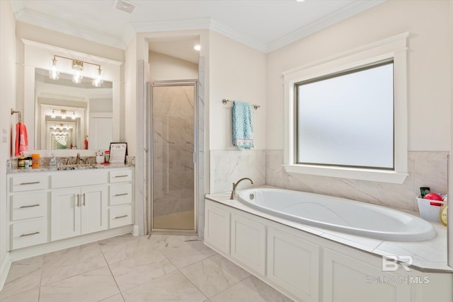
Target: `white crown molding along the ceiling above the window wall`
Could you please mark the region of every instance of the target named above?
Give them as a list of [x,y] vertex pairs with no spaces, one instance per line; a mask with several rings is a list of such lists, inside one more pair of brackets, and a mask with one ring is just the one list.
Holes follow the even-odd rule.
[[312,33],[316,33],[323,28],[327,28],[335,23],[343,21],[347,18],[350,18],[357,13],[361,13],[362,11],[366,11],[369,8],[377,6],[379,4],[384,3],[386,0],[368,0],[368,1],[355,1],[352,4],[345,6],[338,11],[335,11],[328,16],[325,16],[319,20],[316,20],[308,25],[305,25],[298,30],[294,30],[294,32],[289,33],[279,39],[268,43],[268,47],[265,52],[273,52],[281,47],[291,44],[292,42],[296,42],[297,40],[302,39]]

